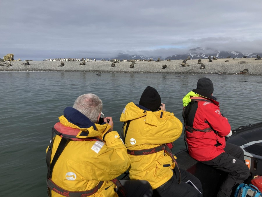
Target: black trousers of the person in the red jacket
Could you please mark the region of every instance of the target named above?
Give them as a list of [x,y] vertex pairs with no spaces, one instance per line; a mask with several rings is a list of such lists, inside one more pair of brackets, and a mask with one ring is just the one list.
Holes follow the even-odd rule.
[[249,168],[244,163],[243,150],[240,147],[226,143],[224,151],[225,153],[210,161],[202,161],[206,165],[227,173],[226,179],[219,188],[218,197],[231,196],[232,190],[236,189],[236,186],[243,183],[250,175]]

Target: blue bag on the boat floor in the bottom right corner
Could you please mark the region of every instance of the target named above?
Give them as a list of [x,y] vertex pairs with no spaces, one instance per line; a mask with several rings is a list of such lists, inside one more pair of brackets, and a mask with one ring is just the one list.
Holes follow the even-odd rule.
[[252,184],[244,184],[241,183],[238,188],[236,189],[235,192],[235,197],[246,197],[246,196],[250,196],[250,197],[259,197],[262,196],[261,192],[259,191],[259,189],[252,185]]

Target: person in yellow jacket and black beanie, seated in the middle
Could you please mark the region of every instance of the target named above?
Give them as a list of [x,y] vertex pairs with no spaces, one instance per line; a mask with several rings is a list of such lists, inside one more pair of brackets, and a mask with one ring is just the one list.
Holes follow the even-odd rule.
[[[182,123],[165,110],[155,88],[147,86],[139,104],[128,103],[120,121],[125,122],[122,137],[131,159],[131,180],[147,180],[153,196],[201,196],[199,179],[179,169],[170,151],[182,133]],[[196,188],[186,183],[189,180]]]

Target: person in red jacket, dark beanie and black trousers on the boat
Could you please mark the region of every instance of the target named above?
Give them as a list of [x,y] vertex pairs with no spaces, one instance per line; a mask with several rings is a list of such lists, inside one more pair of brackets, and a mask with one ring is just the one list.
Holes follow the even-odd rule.
[[183,98],[183,118],[189,154],[192,158],[227,173],[218,197],[231,196],[238,184],[250,175],[243,150],[225,137],[232,135],[228,119],[221,114],[208,78],[197,81],[197,89]]

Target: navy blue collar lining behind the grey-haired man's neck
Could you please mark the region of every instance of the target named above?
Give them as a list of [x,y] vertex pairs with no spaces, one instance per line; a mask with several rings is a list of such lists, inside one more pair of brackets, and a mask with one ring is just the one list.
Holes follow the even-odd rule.
[[80,128],[89,128],[93,126],[96,130],[95,123],[91,122],[89,118],[73,107],[66,107],[64,109],[64,116],[68,122],[73,123]]

